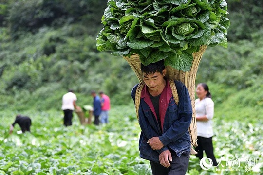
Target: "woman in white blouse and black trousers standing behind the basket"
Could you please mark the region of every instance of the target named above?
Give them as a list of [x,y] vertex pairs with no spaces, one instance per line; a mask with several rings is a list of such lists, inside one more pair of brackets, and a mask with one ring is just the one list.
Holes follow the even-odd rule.
[[196,157],[202,159],[204,151],[208,158],[213,161],[213,166],[217,166],[214,156],[212,137],[214,135],[212,128],[212,119],[214,117],[214,102],[207,84],[200,83],[196,87],[195,100],[196,124],[197,124],[197,151]]

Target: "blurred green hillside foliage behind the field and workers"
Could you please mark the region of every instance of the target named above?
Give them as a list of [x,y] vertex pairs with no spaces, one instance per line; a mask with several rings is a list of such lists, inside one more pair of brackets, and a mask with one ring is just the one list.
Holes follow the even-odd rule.
[[[196,83],[218,107],[263,108],[263,1],[227,0],[228,48],[208,47]],[[60,109],[73,88],[78,105],[103,90],[113,105],[131,103],[138,82],[128,63],[98,52],[107,0],[0,1],[0,109]]]

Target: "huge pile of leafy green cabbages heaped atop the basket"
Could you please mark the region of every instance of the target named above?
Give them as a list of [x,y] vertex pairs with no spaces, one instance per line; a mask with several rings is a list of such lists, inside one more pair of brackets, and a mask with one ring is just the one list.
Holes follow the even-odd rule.
[[200,46],[227,47],[226,10],[225,0],[109,0],[97,49],[189,71]]

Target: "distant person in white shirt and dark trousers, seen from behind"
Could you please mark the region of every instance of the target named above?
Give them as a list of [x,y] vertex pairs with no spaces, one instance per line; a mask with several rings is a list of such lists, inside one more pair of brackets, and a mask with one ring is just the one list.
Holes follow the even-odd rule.
[[62,107],[64,111],[64,125],[72,125],[73,111],[76,108],[76,95],[73,93],[73,90],[69,90],[68,93],[62,97]]

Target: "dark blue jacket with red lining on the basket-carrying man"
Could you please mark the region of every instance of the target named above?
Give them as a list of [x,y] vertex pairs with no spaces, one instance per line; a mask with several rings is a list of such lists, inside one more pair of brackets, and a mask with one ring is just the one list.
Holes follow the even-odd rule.
[[[142,90],[139,106],[139,124],[141,127],[141,136],[139,140],[140,157],[159,163],[159,154],[167,149],[173,150],[178,157],[184,152],[190,152],[191,140],[188,128],[192,121],[192,105],[188,89],[179,81],[174,81],[179,96],[179,104],[176,105],[169,86],[166,83],[166,89],[163,90],[160,97],[160,115],[164,111],[164,121],[162,131],[158,126],[154,107],[151,103],[149,92],[145,86]],[[131,97],[135,102],[135,94],[138,84],[131,91]],[[166,94],[163,94],[166,93]],[[152,150],[147,141],[155,136],[159,136],[164,144],[161,150]]]

